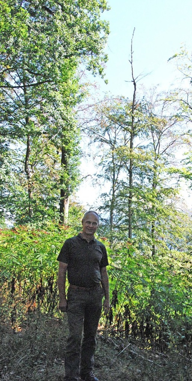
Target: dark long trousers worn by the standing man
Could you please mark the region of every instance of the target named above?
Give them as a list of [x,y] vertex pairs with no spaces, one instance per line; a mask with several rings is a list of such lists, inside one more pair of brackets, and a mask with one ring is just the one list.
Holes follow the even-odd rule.
[[[65,381],[78,381],[94,367],[95,336],[102,311],[103,290],[77,290],[69,286],[67,319],[69,335],[65,352]],[[82,332],[84,332],[82,341]],[[82,341],[82,344],[81,344]]]

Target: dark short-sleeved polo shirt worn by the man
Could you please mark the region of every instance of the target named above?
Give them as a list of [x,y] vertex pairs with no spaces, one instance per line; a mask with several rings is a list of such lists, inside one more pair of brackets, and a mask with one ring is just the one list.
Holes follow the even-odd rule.
[[65,241],[57,261],[67,263],[68,282],[94,287],[101,281],[101,268],[108,266],[106,248],[95,237],[87,242],[79,233]]

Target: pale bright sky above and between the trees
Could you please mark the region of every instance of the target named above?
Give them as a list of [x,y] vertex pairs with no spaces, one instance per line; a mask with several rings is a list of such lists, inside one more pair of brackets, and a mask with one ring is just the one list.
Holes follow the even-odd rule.
[[[168,59],[179,53],[181,46],[192,51],[192,1],[108,0],[108,4],[111,10],[103,13],[111,30],[106,46],[108,62],[105,78],[108,85],[95,78],[100,86],[100,96],[110,92],[115,96],[132,97],[129,59],[134,28],[133,70],[135,77],[143,76],[138,86],[143,84],[151,88],[159,85],[159,89],[165,91],[171,86],[179,86],[181,75],[176,62],[168,62]],[[82,161],[81,170],[84,176],[94,173],[93,165],[86,160]],[[100,191],[91,186],[91,180],[87,180],[78,191],[78,200],[88,208],[94,204]]]

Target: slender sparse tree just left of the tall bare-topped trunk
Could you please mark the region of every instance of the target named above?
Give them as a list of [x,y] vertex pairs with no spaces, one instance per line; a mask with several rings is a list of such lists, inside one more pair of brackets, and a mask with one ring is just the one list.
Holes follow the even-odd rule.
[[109,194],[101,195],[104,200],[103,208],[109,211],[110,240],[114,239],[115,212],[117,208],[117,194],[121,187],[122,162],[119,160],[119,147],[127,146],[130,141],[128,124],[131,124],[131,111],[126,107],[127,100],[107,99],[95,107],[95,125],[87,128],[90,136],[97,142],[97,151],[100,152],[99,167],[102,173],[98,174],[110,184]]

